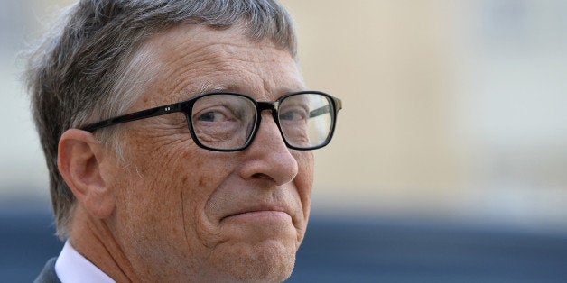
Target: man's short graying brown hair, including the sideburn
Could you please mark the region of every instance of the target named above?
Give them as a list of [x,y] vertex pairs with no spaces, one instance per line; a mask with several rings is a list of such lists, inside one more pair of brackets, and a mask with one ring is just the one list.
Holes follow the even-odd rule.
[[[61,21],[33,51],[25,73],[61,238],[69,236],[75,197],[57,168],[60,136],[135,103],[152,75],[151,50],[144,50],[149,37],[179,24],[242,23],[249,39],[272,41],[296,58],[292,18],[276,0],[81,0]],[[101,129],[97,138],[120,155],[116,128]]]

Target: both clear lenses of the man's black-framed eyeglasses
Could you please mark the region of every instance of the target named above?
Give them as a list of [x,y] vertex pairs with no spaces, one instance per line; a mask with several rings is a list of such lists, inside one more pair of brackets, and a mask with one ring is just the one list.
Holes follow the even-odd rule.
[[[308,149],[327,142],[333,123],[330,98],[319,94],[287,96],[278,107],[285,141]],[[192,107],[191,123],[199,142],[212,149],[233,150],[246,145],[255,131],[256,105],[245,96],[203,96]]]

